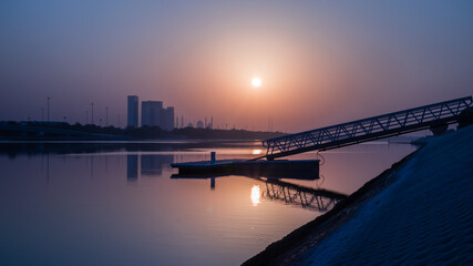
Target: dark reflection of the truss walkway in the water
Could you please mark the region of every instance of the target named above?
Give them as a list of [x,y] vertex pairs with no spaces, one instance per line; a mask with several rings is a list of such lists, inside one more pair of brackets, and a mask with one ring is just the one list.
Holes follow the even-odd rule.
[[[261,178],[257,180],[264,181]],[[261,190],[261,198],[279,201],[319,212],[327,212],[339,201],[347,197],[337,192],[315,190],[278,180],[267,180],[264,182],[266,190]]]

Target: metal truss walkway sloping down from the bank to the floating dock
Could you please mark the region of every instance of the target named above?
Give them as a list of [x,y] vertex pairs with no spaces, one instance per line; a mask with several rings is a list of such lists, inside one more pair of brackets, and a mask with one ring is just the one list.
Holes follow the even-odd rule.
[[266,140],[267,160],[308,151],[327,151],[439,125],[455,123],[459,114],[472,105],[472,98],[460,98],[425,106],[357,120],[343,124]]

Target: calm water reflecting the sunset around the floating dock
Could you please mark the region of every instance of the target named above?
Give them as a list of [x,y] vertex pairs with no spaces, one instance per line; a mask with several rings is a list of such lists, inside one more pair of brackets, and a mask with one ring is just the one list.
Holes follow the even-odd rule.
[[[208,160],[209,151],[251,157],[258,147],[3,149],[0,265],[238,265],[335,204],[243,176],[171,178],[169,163]],[[323,178],[287,182],[349,194],[413,151],[371,143],[326,152]]]

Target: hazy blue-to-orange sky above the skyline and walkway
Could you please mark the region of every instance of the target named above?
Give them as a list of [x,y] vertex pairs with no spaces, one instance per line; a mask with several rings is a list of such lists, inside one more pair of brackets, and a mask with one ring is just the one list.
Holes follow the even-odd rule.
[[473,1],[2,0],[0,93],[0,120],[50,96],[52,120],[94,102],[123,126],[137,94],[186,123],[310,130],[472,95]]

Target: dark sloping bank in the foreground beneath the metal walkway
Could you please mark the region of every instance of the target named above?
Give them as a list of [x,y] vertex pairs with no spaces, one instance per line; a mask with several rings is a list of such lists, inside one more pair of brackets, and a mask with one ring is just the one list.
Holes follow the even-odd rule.
[[465,213],[473,187],[472,137],[473,125],[422,142],[330,212],[243,265],[425,265],[472,259],[465,244],[473,235],[472,213]]

